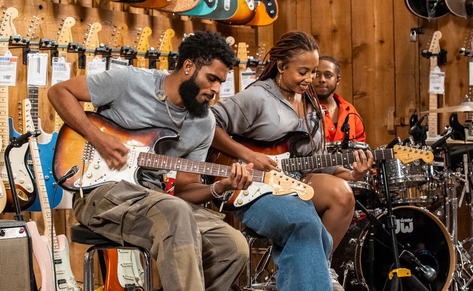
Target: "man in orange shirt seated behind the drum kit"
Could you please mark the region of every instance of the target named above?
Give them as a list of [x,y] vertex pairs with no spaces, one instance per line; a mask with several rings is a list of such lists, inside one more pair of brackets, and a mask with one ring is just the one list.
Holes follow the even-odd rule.
[[364,143],[366,135],[363,122],[357,116],[358,112],[351,103],[335,93],[339,82],[340,64],[332,57],[320,57],[312,84],[325,112],[325,137],[328,142],[343,141],[345,132],[342,127],[345,120],[348,120],[349,141]]

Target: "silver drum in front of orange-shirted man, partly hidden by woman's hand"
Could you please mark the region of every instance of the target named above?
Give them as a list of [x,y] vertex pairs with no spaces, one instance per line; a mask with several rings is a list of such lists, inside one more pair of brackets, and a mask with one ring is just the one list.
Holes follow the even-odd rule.
[[[343,147],[343,141],[327,142],[326,145],[329,154],[345,154],[352,153],[358,149],[370,149],[368,144],[360,142],[348,142],[348,147],[345,148]],[[352,164],[345,164],[343,167],[348,170],[353,170]],[[353,194],[355,195],[369,194],[371,191],[373,191],[373,183],[369,171],[366,173],[366,176],[363,178],[363,180],[358,182],[349,182],[349,184],[353,190]]]

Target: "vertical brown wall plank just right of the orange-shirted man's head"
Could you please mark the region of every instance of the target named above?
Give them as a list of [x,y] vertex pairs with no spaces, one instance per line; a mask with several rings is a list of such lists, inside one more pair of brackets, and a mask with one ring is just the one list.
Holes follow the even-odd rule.
[[[379,130],[394,110],[394,38],[392,1],[352,1],[353,105],[366,122],[366,142],[372,147],[391,141]],[[382,19],[382,21],[380,21]]]

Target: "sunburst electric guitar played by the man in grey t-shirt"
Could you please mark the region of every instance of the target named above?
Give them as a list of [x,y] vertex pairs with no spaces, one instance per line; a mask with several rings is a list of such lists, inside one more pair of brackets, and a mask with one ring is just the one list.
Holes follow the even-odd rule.
[[[129,149],[128,162],[120,170],[110,170],[95,147],[64,124],[59,131],[54,151],[53,175],[56,178],[62,177],[72,166],[80,165],[78,173],[62,184],[62,187],[68,191],[86,193],[100,185],[120,180],[138,184],[137,177],[141,169],[174,170],[219,177],[228,177],[231,173],[231,166],[155,154],[154,150],[160,142],[179,138],[172,129],[128,130],[100,114],[93,112],[86,112],[86,114],[95,126],[105,133],[118,137],[124,143]],[[302,200],[309,200],[314,195],[312,187],[277,171],[250,170],[249,172],[253,181],[268,184],[274,195],[296,193]],[[259,196],[246,199],[250,200],[248,203],[251,203],[257,198]]]

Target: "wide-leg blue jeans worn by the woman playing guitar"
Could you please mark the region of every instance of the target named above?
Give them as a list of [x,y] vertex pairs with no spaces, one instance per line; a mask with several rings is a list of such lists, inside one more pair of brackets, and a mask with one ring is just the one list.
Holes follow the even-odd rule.
[[279,291],[331,291],[327,260],[332,238],[312,201],[298,196],[265,195],[235,211],[241,223],[273,242]]

